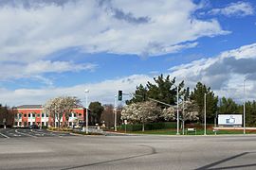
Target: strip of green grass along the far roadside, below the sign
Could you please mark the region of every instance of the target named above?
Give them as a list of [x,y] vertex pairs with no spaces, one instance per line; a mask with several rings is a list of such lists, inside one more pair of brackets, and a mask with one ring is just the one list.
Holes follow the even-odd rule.
[[[158,129],[158,130],[145,130],[143,131],[127,131],[127,133],[135,133],[135,134],[157,134],[157,135],[175,135],[176,129],[169,128],[169,129]],[[182,129],[179,131],[182,134]],[[243,130],[219,130],[216,132],[217,135],[219,134],[244,134]],[[247,134],[256,134],[256,131],[249,131],[247,130]],[[186,131],[185,131],[186,135]],[[194,132],[188,132],[188,135],[195,135]],[[197,129],[196,135],[204,135],[204,129]],[[207,135],[215,135],[215,132],[208,129]]]

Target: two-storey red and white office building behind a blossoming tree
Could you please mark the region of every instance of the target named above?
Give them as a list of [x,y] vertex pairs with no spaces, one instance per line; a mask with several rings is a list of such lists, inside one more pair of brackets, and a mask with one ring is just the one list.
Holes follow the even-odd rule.
[[[42,105],[22,105],[13,109],[14,127],[28,127],[30,125],[38,125],[39,127],[58,127],[58,120],[50,116],[48,112],[44,112]],[[79,122],[85,121],[86,110],[84,108],[76,108],[71,110],[68,119],[68,127],[79,125]],[[64,125],[65,117],[61,119],[61,127]]]

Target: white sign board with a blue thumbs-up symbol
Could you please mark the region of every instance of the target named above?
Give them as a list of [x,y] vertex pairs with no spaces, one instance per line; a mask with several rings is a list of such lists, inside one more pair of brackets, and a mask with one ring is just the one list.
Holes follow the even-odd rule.
[[221,126],[242,126],[242,114],[219,114],[218,125]]

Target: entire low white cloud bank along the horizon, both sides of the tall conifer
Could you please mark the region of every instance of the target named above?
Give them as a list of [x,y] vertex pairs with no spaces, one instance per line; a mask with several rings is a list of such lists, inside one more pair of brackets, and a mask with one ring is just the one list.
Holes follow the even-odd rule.
[[[255,65],[256,43],[253,43],[223,52],[215,58],[198,59],[189,64],[175,66],[170,69],[169,75],[176,76],[177,81],[185,80],[185,85],[192,89],[198,81],[201,81],[210,86],[217,95],[232,97],[241,102],[244,97],[243,80],[247,76],[247,99],[256,99]],[[47,99],[58,95],[75,95],[84,103],[85,89],[90,90],[90,101],[113,103],[114,95],[119,90],[123,93],[133,93],[137,85],[145,85],[147,81],[153,81],[153,76],[133,75],[65,88],[17,89],[14,91],[0,89],[0,103],[7,103],[9,106],[44,104]]]

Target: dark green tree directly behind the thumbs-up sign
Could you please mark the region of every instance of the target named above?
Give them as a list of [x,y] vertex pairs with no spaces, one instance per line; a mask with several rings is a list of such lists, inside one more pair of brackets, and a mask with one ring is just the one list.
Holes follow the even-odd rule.
[[231,99],[222,97],[220,101],[220,113],[238,113],[238,105]]

